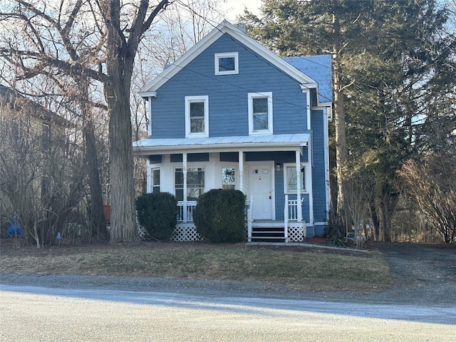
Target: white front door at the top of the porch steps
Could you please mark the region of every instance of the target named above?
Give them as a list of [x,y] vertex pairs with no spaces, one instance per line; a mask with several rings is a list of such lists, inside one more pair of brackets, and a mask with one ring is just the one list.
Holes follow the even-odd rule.
[[274,219],[274,193],[272,187],[273,167],[271,162],[252,162],[249,165],[249,193],[253,196],[254,219]]

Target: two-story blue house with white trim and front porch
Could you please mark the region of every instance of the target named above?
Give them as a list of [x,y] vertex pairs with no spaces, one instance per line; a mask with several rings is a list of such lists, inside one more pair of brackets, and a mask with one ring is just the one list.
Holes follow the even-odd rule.
[[134,151],[147,158],[148,191],[182,207],[175,239],[197,239],[192,208],[214,188],[246,195],[249,241],[323,234],[331,56],[279,58],[224,21],[141,95],[150,137]]

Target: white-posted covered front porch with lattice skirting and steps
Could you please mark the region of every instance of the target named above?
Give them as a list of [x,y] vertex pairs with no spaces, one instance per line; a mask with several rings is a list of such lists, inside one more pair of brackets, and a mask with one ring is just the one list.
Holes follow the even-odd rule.
[[[136,142],[134,149],[136,155],[149,160],[148,192],[156,190],[152,171],[161,170],[160,191],[180,195],[180,198],[176,196],[180,211],[173,240],[202,239],[193,224],[197,196],[192,183],[196,169],[202,172],[199,177],[204,179],[204,185],[201,185],[204,189],[199,193],[214,188],[244,192],[247,197],[245,227],[248,242],[302,242],[306,238],[305,221],[311,221],[312,212],[311,183],[304,185],[304,193],[301,182],[296,181],[292,193],[287,193],[284,182],[286,172],[293,173],[298,179],[303,172],[303,162],[310,165],[309,134],[147,139]],[[230,177],[225,177],[227,165],[232,172]],[[172,180],[176,170],[182,178],[182,189],[179,190],[177,178]],[[307,177],[311,179],[310,167],[308,172]],[[309,216],[306,220],[303,209]]]

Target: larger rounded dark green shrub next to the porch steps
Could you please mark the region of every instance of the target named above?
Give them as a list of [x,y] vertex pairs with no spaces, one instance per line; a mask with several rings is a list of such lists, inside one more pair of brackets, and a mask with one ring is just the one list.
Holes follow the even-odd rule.
[[245,196],[214,189],[201,195],[193,212],[197,232],[209,242],[245,241]]

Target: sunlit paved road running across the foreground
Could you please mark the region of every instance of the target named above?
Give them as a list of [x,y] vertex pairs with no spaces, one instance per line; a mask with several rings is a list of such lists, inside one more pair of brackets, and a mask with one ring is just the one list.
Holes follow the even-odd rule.
[[455,341],[456,306],[0,287],[0,341]]

